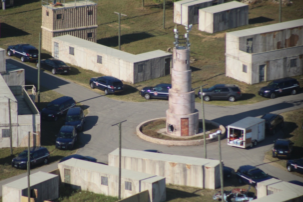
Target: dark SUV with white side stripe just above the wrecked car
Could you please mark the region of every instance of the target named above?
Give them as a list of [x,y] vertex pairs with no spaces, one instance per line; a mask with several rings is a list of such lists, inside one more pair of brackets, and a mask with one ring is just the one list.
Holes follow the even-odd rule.
[[273,178],[263,172],[260,168],[251,165],[240,166],[236,174],[240,184],[245,183],[254,187],[257,185],[258,182]]

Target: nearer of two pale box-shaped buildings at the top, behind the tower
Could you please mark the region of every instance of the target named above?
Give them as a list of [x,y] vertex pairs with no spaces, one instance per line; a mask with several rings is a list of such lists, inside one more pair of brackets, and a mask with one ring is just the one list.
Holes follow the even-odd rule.
[[232,1],[199,9],[201,31],[215,33],[243,25],[248,25],[248,4]]

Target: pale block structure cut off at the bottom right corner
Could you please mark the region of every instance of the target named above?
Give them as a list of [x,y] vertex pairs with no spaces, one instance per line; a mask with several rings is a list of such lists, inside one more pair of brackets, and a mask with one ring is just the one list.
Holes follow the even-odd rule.
[[303,187],[275,178],[257,184],[255,202],[290,202],[303,201]]

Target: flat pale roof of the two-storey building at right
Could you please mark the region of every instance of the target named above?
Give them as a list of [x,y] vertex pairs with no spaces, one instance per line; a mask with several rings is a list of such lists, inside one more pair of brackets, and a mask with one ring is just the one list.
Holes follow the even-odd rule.
[[301,26],[303,26],[303,18],[298,19],[298,20],[288,21],[288,22],[276,23],[276,24],[272,24],[272,25],[265,25],[265,26],[261,26],[261,27],[243,29],[243,30],[239,30],[239,31],[232,31],[232,32],[228,32],[227,34],[238,36],[238,37],[243,37],[243,36],[250,36],[250,35],[272,32],[272,31],[280,31],[280,30],[284,30],[284,29],[296,28],[296,27],[301,27]]

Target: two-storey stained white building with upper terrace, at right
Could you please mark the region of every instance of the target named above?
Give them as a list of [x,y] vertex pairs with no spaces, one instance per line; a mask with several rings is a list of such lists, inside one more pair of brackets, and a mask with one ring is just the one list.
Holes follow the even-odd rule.
[[226,33],[225,74],[248,84],[303,74],[303,19]]

